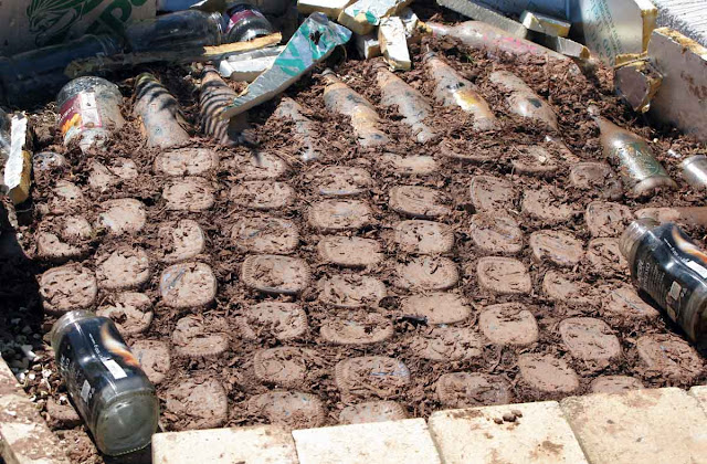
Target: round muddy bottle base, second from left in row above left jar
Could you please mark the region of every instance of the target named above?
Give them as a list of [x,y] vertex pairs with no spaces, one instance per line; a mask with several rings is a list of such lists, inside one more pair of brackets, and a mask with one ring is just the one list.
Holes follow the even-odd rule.
[[149,277],[150,262],[145,250],[123,245],[112,253],[96,254],[96,278],[101,288],[138,288]]

